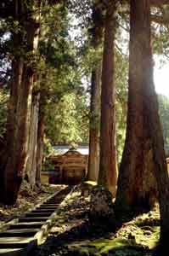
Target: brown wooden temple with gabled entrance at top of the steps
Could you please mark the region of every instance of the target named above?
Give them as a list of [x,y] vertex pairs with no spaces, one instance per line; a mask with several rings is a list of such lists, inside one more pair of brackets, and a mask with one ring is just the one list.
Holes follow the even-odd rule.
[[42,183],[80,183],[87,175],[88,144],[81,143],[76,149],[56,145],[50,160],[54,168],[42,172]]

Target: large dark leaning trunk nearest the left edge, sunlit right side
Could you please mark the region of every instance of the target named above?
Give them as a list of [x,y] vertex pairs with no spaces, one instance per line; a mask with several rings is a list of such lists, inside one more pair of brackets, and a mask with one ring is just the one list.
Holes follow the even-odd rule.
[[[40,4],[40,1],[37,3]],[[40,6],[38,5],[37,7],[39,8]],[[37,50],[40,13],[37,12],[34,15],[32,12],[32,15],[29,14],[26,16],[30,11],[27,8],[28,5],[23,1],[15,2],[16,20],[19,23],[21,22],[20,24],[25,27],[26,32],[24,36],[26,38],[25,54],[34,55]],[[17,34],[14,35],[14,42],[15,38],[18,38]],[[20,53],[20,44],[21,46],[23,44],[22,39],[18,42],[18,45],[15,44],[17,53]],[[17,69],[14,69],[14,84],[10,96],[12,107],[9,115],[14,113],[14,117],[8,119],[8,160],[4,169],[3,184],[3,195],[5,195],[3,203],[8,205],[14,204],[16,201],[20,183],[25,173],[31,117],[31,94],[35,74],[31,61],[23,60],[22,57],[18,56],[15,57],[14,61],[16,62],[16,66],[19,66],[20,63],[20,73]],[[13,91],[14,95],[12,95]]]

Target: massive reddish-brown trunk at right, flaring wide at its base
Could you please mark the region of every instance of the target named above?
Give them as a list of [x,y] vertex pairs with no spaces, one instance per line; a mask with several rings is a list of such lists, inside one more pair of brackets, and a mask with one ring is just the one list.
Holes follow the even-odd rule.
[[157,195],[153,172],[157,166],[148,131],[149,114],[144,108],[144,90],[148,79],[145,61],[150,44],[147,8],[145,1],[131,1],[127,137],[115,201],[119,211],[129,210],[130,207],[151,207]]

